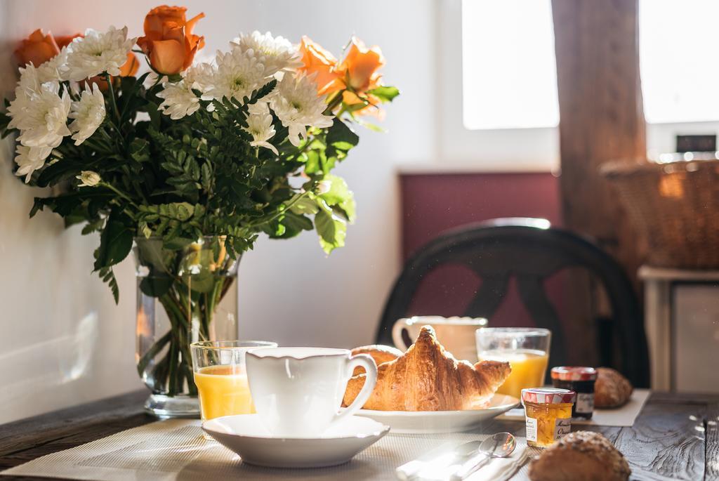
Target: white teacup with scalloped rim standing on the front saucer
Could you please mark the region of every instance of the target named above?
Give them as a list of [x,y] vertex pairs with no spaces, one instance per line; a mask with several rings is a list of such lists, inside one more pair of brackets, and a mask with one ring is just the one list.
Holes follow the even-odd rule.
[[[314,437],[365,405],[377,382],[367,354],[322,347],[265,347],[247,352],[247,380],[255,411],[273,436]],[[354,367],[364,367],[365,385],[339,411]]]

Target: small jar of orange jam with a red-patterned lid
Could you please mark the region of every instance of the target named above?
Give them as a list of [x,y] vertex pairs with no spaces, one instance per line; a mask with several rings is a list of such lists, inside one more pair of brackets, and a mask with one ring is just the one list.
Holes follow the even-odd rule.
[[527,426],[527,444],[551,446],[572,430],[572,406],[576,393],[568,389],[529,388],[522,390]]

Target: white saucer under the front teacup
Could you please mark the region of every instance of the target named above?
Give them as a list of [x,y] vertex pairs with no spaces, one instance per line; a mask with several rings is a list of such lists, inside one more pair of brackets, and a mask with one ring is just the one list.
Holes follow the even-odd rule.
[[321,437],[276,438],[257,414],[211,419],[202,429],[239,454],[243,462],[265,467],[326,467],[342,464],[388,433],[370,418],[350,416]]

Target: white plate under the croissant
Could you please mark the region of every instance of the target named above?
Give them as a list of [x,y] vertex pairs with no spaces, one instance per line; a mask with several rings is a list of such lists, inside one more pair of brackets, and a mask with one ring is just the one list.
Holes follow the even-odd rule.
[[519,405],[510,395],[495,394],[490,406],[467,411],[370,411],[360,409],[357,416],[367,416],[388,424],[393,434],[454,433],[475,428],[482,421],[499,416]]

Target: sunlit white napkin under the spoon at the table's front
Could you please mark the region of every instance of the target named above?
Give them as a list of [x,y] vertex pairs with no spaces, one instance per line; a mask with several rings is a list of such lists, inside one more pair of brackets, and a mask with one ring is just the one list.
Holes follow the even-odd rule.
[[[526,462],[528,457],[526,439],[517,438],[517,446],[510,457],[490,459],[477,472],[467,477],[467,481],[506,481]],[[397,477],[406,480],[403,472],[417,472],[412,479],[426,481],[446,481],[462,465],[452,452],[432,452],[414,461],[403,464],[397,469]]]

